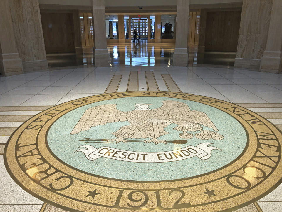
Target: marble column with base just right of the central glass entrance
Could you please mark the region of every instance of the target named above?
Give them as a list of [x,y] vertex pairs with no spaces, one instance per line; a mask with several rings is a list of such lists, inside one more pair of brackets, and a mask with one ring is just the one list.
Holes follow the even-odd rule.
[[188,29],[190,0],[177,0],[176,43],[173,54],[174,66],[188,65]]

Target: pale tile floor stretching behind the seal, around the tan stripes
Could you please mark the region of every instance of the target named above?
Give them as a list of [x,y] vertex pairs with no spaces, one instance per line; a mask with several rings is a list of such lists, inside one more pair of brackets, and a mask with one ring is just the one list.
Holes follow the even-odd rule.
[[103,93],[113,74],[121,74],[125,91],[130,71],[138,71],[139,87],[147,89],[144,71],[153,71],[160,90],[161,74],[170,74],[182,92],[233,103],[281,103],[282,74],[215,67],[80,67],[0,77],[0,106],[56,105]]

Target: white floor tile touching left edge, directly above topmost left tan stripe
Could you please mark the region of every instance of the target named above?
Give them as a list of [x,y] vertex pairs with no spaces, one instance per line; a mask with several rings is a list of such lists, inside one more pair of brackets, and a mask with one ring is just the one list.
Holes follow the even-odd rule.
[[33,95],[0,95],[0,106],[19,106]]

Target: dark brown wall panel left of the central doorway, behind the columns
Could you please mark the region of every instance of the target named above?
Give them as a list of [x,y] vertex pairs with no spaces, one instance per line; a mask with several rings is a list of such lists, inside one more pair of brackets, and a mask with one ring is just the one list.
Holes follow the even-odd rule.
[[75,52],[72,13],[41,13],[46,53]]

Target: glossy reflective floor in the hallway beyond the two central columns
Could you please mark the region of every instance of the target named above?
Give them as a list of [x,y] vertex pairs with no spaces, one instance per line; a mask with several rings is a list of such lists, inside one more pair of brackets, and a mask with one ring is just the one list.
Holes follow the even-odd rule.
[[[170,66],[173,63],[175,43],[135,43],[108,44],[110,66]],[[189,64],[214,64],[234,66],[236,52],[205,52],[198,54],[197,46],[189,46]],[[50,67],[95,65],[93,47],[83,47],[83,54],[75,52],[47,54]]]

